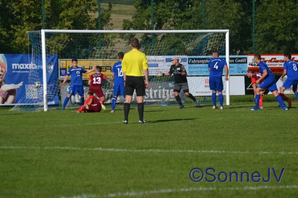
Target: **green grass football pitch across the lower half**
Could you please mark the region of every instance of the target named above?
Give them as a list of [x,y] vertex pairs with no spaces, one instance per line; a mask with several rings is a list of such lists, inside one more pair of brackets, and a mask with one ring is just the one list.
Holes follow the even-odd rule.
[[[249,111],[252,103],[146,106],[74,114],[0,109],[1,198],[286,198],[298,192],[298,102]],[[193,168],[254,171],[270,182],[192,182]],[[198,176],[198,175],[196,175]],[[205,175],[207,176],[207,175]],[[207,176],[212,179],[211,176]],[[224,178],[222,175],[221,179]],[[239,177],[240,178],[240,177]]]

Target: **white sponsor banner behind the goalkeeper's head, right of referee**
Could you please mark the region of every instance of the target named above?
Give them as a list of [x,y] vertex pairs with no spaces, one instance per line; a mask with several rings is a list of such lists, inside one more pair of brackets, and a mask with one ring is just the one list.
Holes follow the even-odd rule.
[[[179,58],[179,63],[184,65],[186,72],[188,72],[188,61],[186,55],[176,55]],[[146,56],[148,60],[149,76],[154,76],[157,72],[169,72],[172,65],[173,56]]]

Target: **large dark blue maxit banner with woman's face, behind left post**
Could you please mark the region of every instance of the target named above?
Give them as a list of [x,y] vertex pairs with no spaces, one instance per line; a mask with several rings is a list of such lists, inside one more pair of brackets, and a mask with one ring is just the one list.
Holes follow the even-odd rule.
[[[0,54],[0,90],[8,97],[0,99],[0,105],[15,103],[35,104],[43,99],[43,67],[41,57],[31,54]],[[29,76],[30,74],[30,76]],[[47,56],[47,96],[49,105],[59,105],[58,56]]]

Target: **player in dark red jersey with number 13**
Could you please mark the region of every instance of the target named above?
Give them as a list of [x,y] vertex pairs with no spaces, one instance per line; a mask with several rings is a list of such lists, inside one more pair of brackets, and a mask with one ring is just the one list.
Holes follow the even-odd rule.
[[94,92],[94,94],[96,94],[96,96],[100,99],[100,102],[104,103],[105,97],[101,89],[103,80],[108,81],[112,85],[114,85],[114,83],[110,79],[108,79],[104,74],[102,74],[101,70],[102,70],[101,66],[96,66],[96,72],[95,74],[92,74],[89,77],[88,85],[90,86],[89,91]]

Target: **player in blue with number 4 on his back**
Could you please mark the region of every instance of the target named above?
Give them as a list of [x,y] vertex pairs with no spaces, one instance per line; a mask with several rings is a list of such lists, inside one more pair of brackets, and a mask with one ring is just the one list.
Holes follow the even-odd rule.
[[208,63],[209,75],[209,87],[212,90],[212,102],[213,109],[216,109],[216,93],[219,94],[219,100],[221,109],[224,109],[224,96],[223,96],[223,70],[225,70],[225,80],[228,81],[228,68],[226,61],[223,58],[219,58],[219,52],[213,51],[212,58]]

